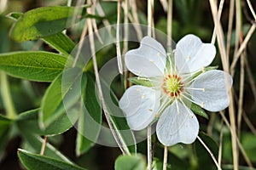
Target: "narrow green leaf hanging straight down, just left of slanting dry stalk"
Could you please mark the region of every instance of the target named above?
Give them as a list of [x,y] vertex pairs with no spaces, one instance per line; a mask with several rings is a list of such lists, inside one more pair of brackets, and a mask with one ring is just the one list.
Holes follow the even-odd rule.
[[89,73],[84,73],[83,80],[82,82],[86,82],[86,85],[82,89],[82,99],[86,111],[82,111],[83,114],[79,117],[79,133],[76,144],[77,156],[84,154],[94,145],[102,127],[102,108],[97,100],[95,77]]

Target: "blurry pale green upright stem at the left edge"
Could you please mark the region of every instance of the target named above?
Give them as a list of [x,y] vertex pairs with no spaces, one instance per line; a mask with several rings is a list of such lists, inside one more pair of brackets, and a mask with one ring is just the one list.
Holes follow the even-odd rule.
[[4,105],[4,108],[6,109],[6,115],[10,119],[15,119],[17,114],[15,111],[15,106],[12,100],[12,96],[10,94],[8,77],[3,71],[0,72],[0,77],[1,77],[1,94],[3,98],[3,105]]

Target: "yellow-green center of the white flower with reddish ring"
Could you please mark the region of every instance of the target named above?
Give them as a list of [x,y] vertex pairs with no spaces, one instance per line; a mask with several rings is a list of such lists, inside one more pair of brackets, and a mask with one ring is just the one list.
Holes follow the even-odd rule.
[[183,91],[183,82],[181,82],[181,78],[177,75],[168,74],[164,79],[162,88],[170,97],[178,97]]

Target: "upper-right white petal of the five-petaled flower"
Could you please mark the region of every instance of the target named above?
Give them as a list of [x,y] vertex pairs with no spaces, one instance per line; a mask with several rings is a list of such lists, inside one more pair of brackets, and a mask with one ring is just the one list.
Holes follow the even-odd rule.
[[[210,65],[216,54],[214,45],[203,43],[199,37],[191,34],[177,42],[176,51],[176,65],[183,73],[199,71],[202,67]],[[180,58],[185,62],[181,62]]]

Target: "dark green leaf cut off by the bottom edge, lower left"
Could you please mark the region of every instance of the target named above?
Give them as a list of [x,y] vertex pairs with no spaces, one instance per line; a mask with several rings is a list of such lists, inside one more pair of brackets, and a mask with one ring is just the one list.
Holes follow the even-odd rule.
[[19,149],[18,156],[21,163],[29,170],[84,170],[83,167],[79,167],[77,165],[70,164],[64,161],[58,161],[51,157],[32,154],[26,150]]

